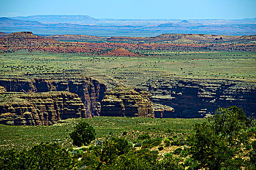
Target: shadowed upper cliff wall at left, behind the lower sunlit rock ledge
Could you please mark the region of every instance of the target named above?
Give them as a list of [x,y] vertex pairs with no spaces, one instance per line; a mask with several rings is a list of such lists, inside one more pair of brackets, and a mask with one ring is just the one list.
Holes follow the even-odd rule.
[[24,78],[0,78],[0,86],[7,92],[68,91],[79,96],[87,117],[99,116],[100,101],[106,86],[97,80],[80,74],[54,73],[24,76]]

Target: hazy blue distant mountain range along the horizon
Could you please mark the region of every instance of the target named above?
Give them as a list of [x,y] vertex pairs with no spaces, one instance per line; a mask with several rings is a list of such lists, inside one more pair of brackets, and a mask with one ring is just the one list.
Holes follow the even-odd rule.
[[256,34],[256,18],[226,19],[96,19],[90,16],[39,15],[0,17],[0,32],[98,36],[155,36],[159,34]]

